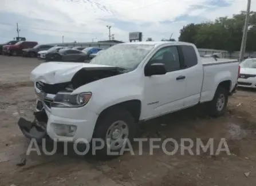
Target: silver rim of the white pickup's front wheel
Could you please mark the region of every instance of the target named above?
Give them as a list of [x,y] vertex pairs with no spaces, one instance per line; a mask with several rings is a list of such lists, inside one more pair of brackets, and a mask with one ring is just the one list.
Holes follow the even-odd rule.
[[128,125],[124,121],[115,121],[111,126],[109,126],[107,135],[106,135],[106,141],[108,148],[112,150],[116,150],[121,148],[129,134]]

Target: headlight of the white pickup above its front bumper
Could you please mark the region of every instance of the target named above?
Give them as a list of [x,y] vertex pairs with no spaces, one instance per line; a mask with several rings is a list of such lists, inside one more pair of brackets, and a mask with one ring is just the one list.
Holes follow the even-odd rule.
[[78,107],[84,106],[92,97],[91,92],[73,94],[70,93],[58,93],[56,94],[52,107]]

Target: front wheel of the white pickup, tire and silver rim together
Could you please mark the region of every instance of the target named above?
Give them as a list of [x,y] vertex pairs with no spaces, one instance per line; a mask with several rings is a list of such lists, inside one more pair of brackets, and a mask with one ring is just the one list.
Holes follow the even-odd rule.
[[[103,148],[95,151],[98,156],[120,156],[123,155],[127,143],[132,143],[135,135],[135,119],[132,114],[124,108],[109,109],[97,121],[93,133],[93,148],[101,144],[93,141],[101,141]],[[96,149],[96,148],[95,148]],[[126,149],[126,148],[125,148]]]

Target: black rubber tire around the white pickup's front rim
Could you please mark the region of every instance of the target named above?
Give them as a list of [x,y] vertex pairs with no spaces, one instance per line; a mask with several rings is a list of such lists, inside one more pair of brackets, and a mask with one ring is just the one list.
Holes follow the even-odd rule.
[[[128,112],[128,110],[122,108],[122,107],[115,107],[112,109],[107,110],[107,112],[103,113],[103,115],[100,116],[99,120],[96,123],[94,133],[93,133],[93,138],[100,138],[104,140],[104,148],[99,149],[95,151],[96,156],[98,157],[109,157],[109,156],[120,156],[120,151],[123,148],[124,145],[127,145],[127,143],[124,143],[123,146],[121,146],[118,149],[110,149],[107,145],[107,133],[108,130],[113,124],[117,121],[123,121],[128,127],[128,136],[127,143],[132,143],[133,137],[135,136],[136,133],[136,124],[135,124],[135,119],[133,118],[132,114]],[[113,134],[113,133],[112,133]],[[121,135],[123,136],[123,134]],[[90,143],[90,146],[92,149],[92,145],[96,145],[94,147],[99,147],[100,144],[93,143],[93,139]],[[111,151],[113,153],[118,153],[118,155],[108,155],[108,152]]]

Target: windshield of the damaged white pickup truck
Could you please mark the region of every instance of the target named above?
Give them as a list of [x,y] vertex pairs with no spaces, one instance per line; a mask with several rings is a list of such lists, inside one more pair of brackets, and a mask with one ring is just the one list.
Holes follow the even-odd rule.
[[153,48],[154,45],[115,45],[94,57],[90,64],[110,65],[133,70]]

